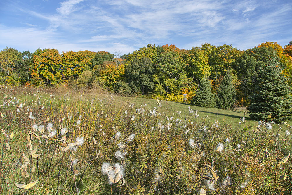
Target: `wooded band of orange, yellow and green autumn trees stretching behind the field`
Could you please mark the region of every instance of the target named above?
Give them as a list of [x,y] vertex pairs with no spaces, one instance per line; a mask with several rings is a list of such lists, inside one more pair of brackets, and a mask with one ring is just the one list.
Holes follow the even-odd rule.
[[187,94],[187,103],[230,109],[253,106],[260,98],[254,97],[261,90],[259,86],[266,87],[270,66],[279,73],[279,85],[290,89],[292,41],[284,47],[265,42],[245,51],[227,44],[205,43],[192,49],[147,44],[122,56],[87,50],[60,54],[56,49],[40,48],[21,53],[6,47],[0,52],[0,64],[1,84],[101,87],[121,95],[176,102],[183,102],[182,94]]

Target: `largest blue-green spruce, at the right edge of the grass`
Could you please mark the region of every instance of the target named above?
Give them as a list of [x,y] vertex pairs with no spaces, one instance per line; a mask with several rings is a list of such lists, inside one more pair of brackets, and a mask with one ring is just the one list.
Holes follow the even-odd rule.
[[252,119],[274,122],[291,119],[291,89],[286,84],[287,78],[282,73],[283,69],[280,59],[276,56],[260,69],[259,84],[248,107]]

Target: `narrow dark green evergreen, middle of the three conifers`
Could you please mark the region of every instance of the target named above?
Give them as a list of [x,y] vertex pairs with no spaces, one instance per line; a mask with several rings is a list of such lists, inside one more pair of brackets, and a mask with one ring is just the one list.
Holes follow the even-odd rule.
[[230,109],[235,103],[236,91],[232,84],[232,78],[229,73],[224,76],[215,96],[216,107],[220,109]]

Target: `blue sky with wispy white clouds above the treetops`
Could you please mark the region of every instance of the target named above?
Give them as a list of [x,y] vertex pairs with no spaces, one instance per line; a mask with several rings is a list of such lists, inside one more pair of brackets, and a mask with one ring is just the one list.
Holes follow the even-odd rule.
[[228,0],[3,0],[0,50],[132,53],[146,44],[246,50],[292,40],[292,3]]

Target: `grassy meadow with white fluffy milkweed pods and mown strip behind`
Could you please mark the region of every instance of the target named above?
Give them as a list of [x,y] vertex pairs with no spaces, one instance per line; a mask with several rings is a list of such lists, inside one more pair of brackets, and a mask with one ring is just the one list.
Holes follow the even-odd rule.
[[97,90],[0,91],[0,194],[292,194],[291,122]]

